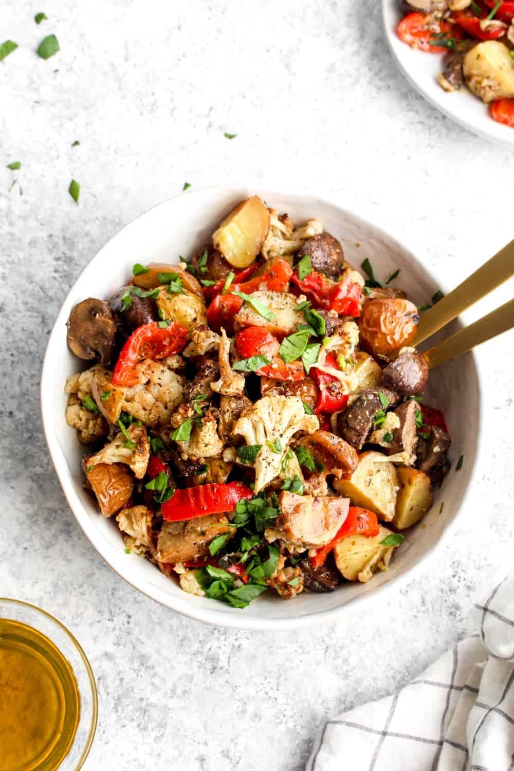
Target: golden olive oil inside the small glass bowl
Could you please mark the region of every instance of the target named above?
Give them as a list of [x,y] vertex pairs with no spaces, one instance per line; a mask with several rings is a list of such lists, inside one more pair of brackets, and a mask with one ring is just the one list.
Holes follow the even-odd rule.
[[80,716],[73,670],[49,638],[0,618],[0,767],[55,771]]

